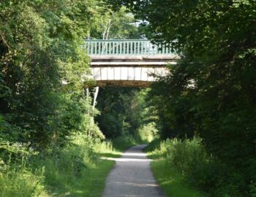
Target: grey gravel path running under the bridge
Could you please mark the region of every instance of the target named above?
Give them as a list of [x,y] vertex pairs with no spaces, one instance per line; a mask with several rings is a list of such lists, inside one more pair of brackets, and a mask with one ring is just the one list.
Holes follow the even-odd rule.
[[131,147],[115,159],[116,166],[108,175],[103,197],[164,197],[151,172],[151,160],[142,151],[144,147]]

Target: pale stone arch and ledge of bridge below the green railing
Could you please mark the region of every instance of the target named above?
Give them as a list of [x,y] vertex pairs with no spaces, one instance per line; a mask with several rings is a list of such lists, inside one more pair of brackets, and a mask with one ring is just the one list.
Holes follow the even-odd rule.
[[173,54],[90,55],[91,80],[99,87],[147,88],[159,76],[166,76],[167,64],[176,64]]

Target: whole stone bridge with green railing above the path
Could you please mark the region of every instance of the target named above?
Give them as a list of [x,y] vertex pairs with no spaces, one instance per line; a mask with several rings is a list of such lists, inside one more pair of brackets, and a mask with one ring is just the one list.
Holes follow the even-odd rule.
[[167,73],[167,63],[178,55],[170,44],[152,44],[146,39],[88,39],[85,49],[91,58],[91,79],[97,86],[148,87]]

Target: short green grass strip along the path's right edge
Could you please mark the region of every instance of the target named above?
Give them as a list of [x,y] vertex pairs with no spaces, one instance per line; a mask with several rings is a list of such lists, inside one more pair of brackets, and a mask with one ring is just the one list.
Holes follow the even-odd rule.
[[151,162],[151,169],[157,183],[166,196],[170,197],[203,197],[199,191],[189,187],[180,171],[175,166],[170,166],[165,159]]

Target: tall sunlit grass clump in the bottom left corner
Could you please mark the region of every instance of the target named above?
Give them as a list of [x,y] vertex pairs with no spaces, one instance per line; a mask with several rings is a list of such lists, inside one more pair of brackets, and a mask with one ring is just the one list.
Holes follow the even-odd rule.
[[35,152],[26,144],[1,143],[0,149],[10,154],[0,158],[0,196],[51,196],[45,189],[44,168],[33,170],[28,165],[29,157]]

